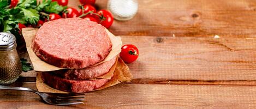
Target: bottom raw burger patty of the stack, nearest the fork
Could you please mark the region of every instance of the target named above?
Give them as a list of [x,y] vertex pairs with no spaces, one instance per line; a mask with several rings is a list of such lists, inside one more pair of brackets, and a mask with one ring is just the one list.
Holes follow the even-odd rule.
[[41,73],[41,77],[48,86],[62,90],[64,92],[82,93],[90,92],[93,89],[102,87],[108,79],[97,79],[97,80],[68,80],[53,75],[49,72]]

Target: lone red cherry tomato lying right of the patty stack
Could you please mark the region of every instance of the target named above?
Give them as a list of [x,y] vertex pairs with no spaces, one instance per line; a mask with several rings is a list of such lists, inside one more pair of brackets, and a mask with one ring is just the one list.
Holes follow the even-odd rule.
[[120,57],[126,63],[134,62],[139,56],[139,50],[136,46],[132,44],[126,44],[122,46],[122,51]]

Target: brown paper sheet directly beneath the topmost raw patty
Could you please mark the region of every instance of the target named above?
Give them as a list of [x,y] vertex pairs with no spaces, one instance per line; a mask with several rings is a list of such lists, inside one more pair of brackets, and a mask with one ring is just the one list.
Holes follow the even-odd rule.
[[[48,64],[35,55],[34,51],[31,49],[31,46],[32,46],[32,41],[35,37],[35,33],[37,33],[37,31],[38,31],[37,28],[23,28],[22,29],[22,35],[26,41],[28,55],[29,55],[29,58],[31,59],[31,62],[34,66],[34,70],[35,71],[55,71],[55,70],[65,69],[65,68],[58,68],[57,66]],[[118,53],[121,52],[121,47],[122,47],[121,38],[115,37],[115,35],[110,33],[108,31],[108,29],[106,29],[106,32],[108,33],[109,38],[111,40],[112,50],[110,51],[108,56],[103,61],[101,61],[97,64],[94,64],[92,66],[96,66],[98,64],[104,63],[104,62],[114,58],[115,56],[117,56]],[[88,67],[91,67],[91,66],[88,66]]]

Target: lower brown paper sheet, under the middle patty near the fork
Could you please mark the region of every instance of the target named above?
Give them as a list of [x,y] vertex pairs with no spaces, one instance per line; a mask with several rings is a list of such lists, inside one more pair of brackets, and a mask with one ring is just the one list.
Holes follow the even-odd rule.
[[[114,71],[114,76],[111,78],[109,82],[104,84],[104,86],[96,89],[96,90],[101,90],[107,87],[114,86],[115,84],[124,82],[124,81],[130,81],[132,79],[132,74],[130,74],[130,70],[128,66],[123,62],[122,59],[118,58],[117,64],[116,64],[116,69]],[[39,92],[47,92],[47,93],[67,93],[63,92],[61,90],[57,90],[54,88],[51,88],[47,84],[43,82],[41,79],[40,73],[37,74],[37,89]],[[92,90],[94,91],[94,90]]]

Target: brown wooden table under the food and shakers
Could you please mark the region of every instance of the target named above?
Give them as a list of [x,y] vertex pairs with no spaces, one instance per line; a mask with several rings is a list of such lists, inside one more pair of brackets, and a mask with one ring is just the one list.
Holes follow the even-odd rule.
[[[78,0],[70,0],[75,7]],[[106,9],[106,0],[98,0]],[[133,80],[86,93],[83,105],[52,106],[39,96],[0,91],[1,108],[255,108],[256,2],[139,0],[129,21],[109,29],[140,50]],[[218,37],[215,37],[218,35]],[[26,52],[21,57],[27,57]],[[35,87],[35,72],[11,86]]]

